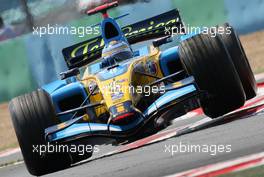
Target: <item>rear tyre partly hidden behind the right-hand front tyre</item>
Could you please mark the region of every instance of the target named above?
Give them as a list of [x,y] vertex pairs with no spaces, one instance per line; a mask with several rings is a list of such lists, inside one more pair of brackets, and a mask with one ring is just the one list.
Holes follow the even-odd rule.
[[[257,95],[257,83],[248,62],[244,48],[232,26],[230,26],[228,23],[225,23],[220,27],[224,29],[224,33],[221,33],[219,35],[221,36],[222,41],[224,42],[235,65],[246,94],[246,99],[252,99]],[[228,31],[228,29],[230,31]]]

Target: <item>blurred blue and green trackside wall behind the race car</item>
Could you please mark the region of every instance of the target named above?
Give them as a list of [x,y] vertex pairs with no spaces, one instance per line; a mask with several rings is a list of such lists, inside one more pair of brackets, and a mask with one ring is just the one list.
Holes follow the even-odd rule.
[[[107,0],[1,0],[0,6],[0,102],[30,92],[58,78],[66,70],[61,50],[93,37],[87,35],[33,35],[33,27],[88,26],[100,15],[82,12]],[[109,0],[110,1],[110,0]],[[107,1],[107,2],[109,2]],[[178,8],[185,24],[215,26],[230,22],[242,36],[255,73],[263,72],[258,53],[263,47],[264,0],[119,0],[113,16],[130,13],[122,25]],[[257,32],[257,33],[256,33]],[[256,43],[256,41],[258,43]],[[259,45],[259,46],[256,46]],[[250,49],[247,49],[250,48]],[[251,48],[257,51],[253,51]],[[1,111],[1,110],[0,110]]]

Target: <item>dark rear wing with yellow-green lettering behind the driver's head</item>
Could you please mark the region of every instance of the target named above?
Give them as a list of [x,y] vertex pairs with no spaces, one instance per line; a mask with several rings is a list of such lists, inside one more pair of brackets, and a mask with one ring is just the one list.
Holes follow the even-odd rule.
[[[168,35],[166,31],[184,32],[179,11],[177,9],[158,16],[128,25],[122,28],[129,44]],[[101,36],[64,48],[62,54],[67,66],[72,69],[82,67],[101,57],[104,41]]]

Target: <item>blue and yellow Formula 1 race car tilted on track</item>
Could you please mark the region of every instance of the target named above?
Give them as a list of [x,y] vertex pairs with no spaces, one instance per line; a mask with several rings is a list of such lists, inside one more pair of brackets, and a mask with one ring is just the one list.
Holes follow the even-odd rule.
[[[92,156],[92,150],[40,155],[33,147],[116,145],[156,133],[196,108],[216,118],[256,96],[246,54],[229,24],[208,34],[185,34],[174,9],[120,28],[116,20],[125,15],[107,14],[117,5],[108,3],[87,12],[102,13],[101,36],[63,49],[69,70],[61,73],[60,80],[10,102],[32,175],[65,169]],[[168,31],[180,38],[173,40]],[[151,45],[132,49],[144,41]],[[174,47],[166,48],[169,43]],[[162,45],[166,49],[161,50]]]

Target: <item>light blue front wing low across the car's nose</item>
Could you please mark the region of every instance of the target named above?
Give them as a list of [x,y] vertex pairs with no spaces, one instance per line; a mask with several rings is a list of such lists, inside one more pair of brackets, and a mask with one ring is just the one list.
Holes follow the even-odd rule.
[[[141,115],[128,125],[112,125],[83,122],[84,116],[49,127],[45,130],[48,142],[71,141],[82,137],[125,138],[136,134],[144,125],[152,120],[158,112],[170,106],[199,95],[193,77],[166,86],[170,91],[164,93],[153,102]],[[195,98],[196,99],[196,98]]]

